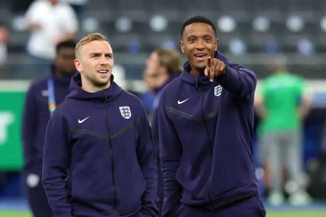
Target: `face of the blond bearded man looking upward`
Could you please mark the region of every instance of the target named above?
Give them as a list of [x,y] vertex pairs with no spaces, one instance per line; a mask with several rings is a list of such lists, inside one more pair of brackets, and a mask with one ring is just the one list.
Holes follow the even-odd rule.
[[113,51],[106,41],[91,41],[83,45],[75,60],[76,69],[94,88],[110,86],[114,65]]

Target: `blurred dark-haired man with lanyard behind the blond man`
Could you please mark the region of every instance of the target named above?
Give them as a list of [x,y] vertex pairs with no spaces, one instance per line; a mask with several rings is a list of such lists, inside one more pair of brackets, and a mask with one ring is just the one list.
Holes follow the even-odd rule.
[[45,130],[56,105],[70,93],[71,76],[76,73],[75,45],[73,41],[60,42],[50,75],[32,84],[26,94],[22,121],[24,173],[34,217],[53,217],[41,184]]

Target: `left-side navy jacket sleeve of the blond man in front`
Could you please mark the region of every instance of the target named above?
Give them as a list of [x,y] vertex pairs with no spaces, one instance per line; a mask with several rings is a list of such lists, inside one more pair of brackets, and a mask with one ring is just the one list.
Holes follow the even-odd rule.
[[46,128],[42,177],[49,205],[56,217],[72,217],[65,181],[69,162],[68,126],[57,107]]

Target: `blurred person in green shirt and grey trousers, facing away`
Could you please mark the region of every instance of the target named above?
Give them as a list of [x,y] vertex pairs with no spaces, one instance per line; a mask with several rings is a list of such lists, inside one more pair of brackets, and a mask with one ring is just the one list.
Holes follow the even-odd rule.
[[305,205],[310,202],[310,196],[302,183],[302,124],[310,111],[312,95],[305,80],[289,73],[282,59],[277,59],[270,70],[273,73],[263,80],[255,95],[255,110],[261,119],[261,154],[270,169],[268,200],[273,205],[284,202],[284,165],[289,181],[296,185],[296,190],[290,193],[290,203]]

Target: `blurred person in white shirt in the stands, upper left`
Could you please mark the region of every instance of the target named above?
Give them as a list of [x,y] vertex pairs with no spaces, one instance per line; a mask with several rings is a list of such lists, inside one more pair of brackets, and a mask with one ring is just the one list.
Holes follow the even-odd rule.
[[27,51],[33,59],[35,76],[44,73],[56,55],[56,45],[71,40],[78,30],[75,11],[59,0],[37,0],[25,14],[28,29],[32,32]]

